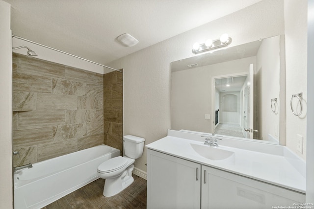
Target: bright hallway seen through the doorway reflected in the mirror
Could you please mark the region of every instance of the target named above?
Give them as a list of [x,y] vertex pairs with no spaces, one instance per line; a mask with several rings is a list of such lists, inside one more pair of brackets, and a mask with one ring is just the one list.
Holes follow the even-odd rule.
[[244,131],[247,115],[247,75],[215,79],[214,133],[249,138]]

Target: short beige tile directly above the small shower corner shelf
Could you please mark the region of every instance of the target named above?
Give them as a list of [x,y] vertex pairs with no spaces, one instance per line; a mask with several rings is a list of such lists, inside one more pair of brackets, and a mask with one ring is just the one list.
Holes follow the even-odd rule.
[[36,109],[36,93],[13,92],[13,109]]

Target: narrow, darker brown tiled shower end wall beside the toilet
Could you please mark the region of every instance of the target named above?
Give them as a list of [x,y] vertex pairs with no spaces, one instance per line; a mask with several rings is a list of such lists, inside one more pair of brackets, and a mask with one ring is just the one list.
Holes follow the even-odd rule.
[[123,155],[123,76],[114,71],[104,75],[104,144]]

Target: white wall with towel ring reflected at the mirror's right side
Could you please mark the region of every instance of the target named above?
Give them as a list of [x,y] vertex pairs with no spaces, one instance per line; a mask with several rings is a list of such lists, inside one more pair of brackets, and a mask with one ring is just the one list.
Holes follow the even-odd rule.
[[[267,134],[279,141],[280,123],[280,38],[279,36],[262,41],[256,59],[258,74],[258,120],[262,127],[262,139]],[[269,76],[271,75],[271,76]],[[271,110],[271,99],[277,98],[275,113]]]

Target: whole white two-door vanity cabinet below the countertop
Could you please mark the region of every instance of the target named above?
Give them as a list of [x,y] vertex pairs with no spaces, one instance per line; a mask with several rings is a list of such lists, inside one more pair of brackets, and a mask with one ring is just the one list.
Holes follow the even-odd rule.
[[271,209],[305,202],[303,193],[151,149],[147,159],[148,209]]

